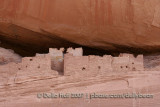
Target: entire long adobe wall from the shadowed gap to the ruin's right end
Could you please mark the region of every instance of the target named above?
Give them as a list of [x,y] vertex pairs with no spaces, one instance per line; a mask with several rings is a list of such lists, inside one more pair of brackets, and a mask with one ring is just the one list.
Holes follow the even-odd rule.
[[66,54],[64,57],[65,75],[73,75],[77,73],[79,73],[79,75],[97,75],[107,73],[109,71],[119,72],[144,70],[143,55],[134,57],[132,54],[124,53],[120,54],[119,57],[112,57],[110,55],[104,55],[103,57],[95,55],[74,56],[72,53],[73,49],[70,50],[70,54]]

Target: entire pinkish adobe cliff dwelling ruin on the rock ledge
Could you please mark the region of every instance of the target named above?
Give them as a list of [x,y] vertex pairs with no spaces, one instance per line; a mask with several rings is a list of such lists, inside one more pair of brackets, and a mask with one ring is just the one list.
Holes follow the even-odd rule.
[[50,48],[48,54],[24,57],[21,63],[0,66],[1,71],[53,72],[55,75],[97,75],[107,72],[143,71],[143,55],[134,56],[122,53],[118,57],[83,56],[82,48]]

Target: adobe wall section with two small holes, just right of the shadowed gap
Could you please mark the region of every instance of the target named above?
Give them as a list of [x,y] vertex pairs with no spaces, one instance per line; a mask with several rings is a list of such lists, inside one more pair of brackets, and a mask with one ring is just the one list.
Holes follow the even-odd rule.
[[64,56],[64,75],[97,75],[112,71],[112,56]]

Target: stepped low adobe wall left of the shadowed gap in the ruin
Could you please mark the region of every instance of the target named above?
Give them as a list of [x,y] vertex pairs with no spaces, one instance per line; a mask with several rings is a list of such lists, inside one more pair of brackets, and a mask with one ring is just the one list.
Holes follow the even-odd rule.
[[[11,69],[10,69],[11,68]],[[24,57],[21,63],[9,63],[0,66],[6,71],[51,71],[51,57],[49,54],[38,54],[35,57]]]

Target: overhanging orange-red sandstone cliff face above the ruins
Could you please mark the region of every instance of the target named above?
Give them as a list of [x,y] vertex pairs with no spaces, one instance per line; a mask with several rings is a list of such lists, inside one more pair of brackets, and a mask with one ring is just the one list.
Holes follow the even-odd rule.
[[0,0],[0,39],[23,47],[151,51],[159,34],[159,0]]

